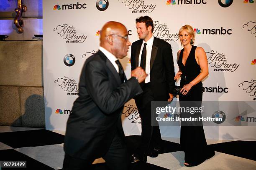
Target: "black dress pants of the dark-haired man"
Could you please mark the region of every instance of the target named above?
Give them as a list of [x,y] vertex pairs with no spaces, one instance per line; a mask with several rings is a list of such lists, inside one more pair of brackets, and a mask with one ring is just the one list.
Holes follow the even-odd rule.
[[[143,93],[136,97],[135,102],[141,116],[141,144],[139,154],[147,154],[161,144],[161,133],[159,126],[151,126],[151,101],[154,94],[150,88],[150,82],[143,85]],[[154,114],[155,115],[155,114]]]

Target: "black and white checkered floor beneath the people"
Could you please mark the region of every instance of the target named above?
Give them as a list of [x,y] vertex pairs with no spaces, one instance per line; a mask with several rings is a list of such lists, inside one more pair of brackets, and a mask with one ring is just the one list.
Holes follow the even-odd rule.
[[[64,132],[62,132],[64,134]],[[126,137],[132,143],[138,136]],[[27,161],[34,170],[59,170],[64,159],[64,135],[37,128],[0,126],[0,161]],[[148,157],[145,164],[133,165],[133,170],[256,170],[255,145],[252,141],[213,144],[216,155],[197,167],[184,167],[184,152],[178,143],[164,141],[162,154]],[[102,163],[103,162],[103,163]],[[96,160],[94,170],[107,170],[104,161]],[[12,168],[2,168],[11,170]],[[17,170],[17,168],[13,168]]]

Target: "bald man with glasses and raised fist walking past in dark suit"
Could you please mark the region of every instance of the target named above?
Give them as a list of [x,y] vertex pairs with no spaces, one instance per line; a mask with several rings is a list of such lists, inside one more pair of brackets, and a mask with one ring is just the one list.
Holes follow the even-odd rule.
[[127,55],[131,42],[125,26],[110,21],[100,35],[100,48],[82,68],[79,97],[67,120],[63,170],[90,169],[103,158],[111,170],[127,170],[121,114],[125,102],[142,92],[146,72],[137,67],[126,80],[118,59]]

